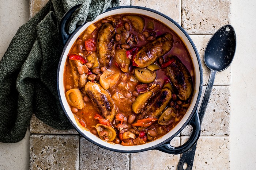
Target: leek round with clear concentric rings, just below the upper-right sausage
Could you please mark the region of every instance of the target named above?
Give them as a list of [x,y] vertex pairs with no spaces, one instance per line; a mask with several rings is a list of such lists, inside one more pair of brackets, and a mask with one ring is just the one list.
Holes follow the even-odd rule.
[[151,83],[155,81],[157,72],[152,72],[147,68],[136,68],[134,70],[134,76],[142,83]]

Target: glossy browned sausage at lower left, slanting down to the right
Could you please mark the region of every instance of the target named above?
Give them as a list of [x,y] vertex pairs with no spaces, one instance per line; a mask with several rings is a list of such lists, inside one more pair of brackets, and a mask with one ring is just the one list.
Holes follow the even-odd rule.
[[84,88],[99,113],[111,122],[116,116],[116,111],[109,92],[103,89],[97,82],[91,81],[87,82]]

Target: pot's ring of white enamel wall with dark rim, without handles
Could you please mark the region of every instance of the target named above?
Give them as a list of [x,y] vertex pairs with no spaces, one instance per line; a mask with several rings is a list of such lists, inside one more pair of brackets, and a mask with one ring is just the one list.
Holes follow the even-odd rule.
[[[193,97],[191,100],[191,105],[188,108],[187,113],[181,119],[181,121],[166,135],[162,136],[161,138],[154,140],[152,142],[148,142],[146,144],[138,145],[138,146],[122,146],[120,144],[113,144],[105,142],[101,140],[97,136],[91,134],[91,132],[80,128],[76,123],[73,113],[71,112],[71,108],[69,107],[67,100],[65,98],[65,91],[64,91],[64,67],[65,62],[67,60],[67,56],[69,50],[71,49],[72,45],[75,43],[76,39],[79,37],[80,34],[92,23],[97,22],[98,20],[105,18],[110,15],[116,15],[120,13],[132,13],[132,14],[142,14],[146,16],[150,16],[151,18],[157,19],[158,21],[166,24],[170,27],[180,38],[183,40],[184,44],[187,46],[189,54],[191,56],[193,66],[194,66],[194,73],[195,73],[195,81],[194,81],[194,92]],[[57,84],[59,90],[59,98],[61,105],[63,107],[64,112],[66,113],[69,121],[71,121],[74,128],[82,135],[84,138],[89,140],[90,142],[108,150],[117,151],[117,152],[140,152],[146,151],[151,149],[157,149],[157,147],[161,146],[162,144],[169,142],[172,138],[174,138],[188,123],[188,121],[192,118],[193,114],[196,111],[201,92],[202,92],[202,66],[199,59],[199,54],[196,50],[194,43],[192,42],[191,38],[188,34],[184,31],[184,29],[177,24],[174,20],[170,19],[166,15],[154,11],[152,9],[144,8],[144,7],[135,7],[135,6],[123,6],[123,7],[116,7],[108,9],[106,12],[99,15],[93,22],[88,22],[83,26],[79,27],[68,39],[63,54],[60,59],[58,75],[57,75]]]

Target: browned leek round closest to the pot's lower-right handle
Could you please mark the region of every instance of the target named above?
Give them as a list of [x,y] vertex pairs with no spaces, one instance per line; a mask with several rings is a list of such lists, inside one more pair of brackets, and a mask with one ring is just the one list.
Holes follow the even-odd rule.
[[176,110],[173,107],[166,108],[158,119],[158,124],[169,125],[174,121],[176,117]]

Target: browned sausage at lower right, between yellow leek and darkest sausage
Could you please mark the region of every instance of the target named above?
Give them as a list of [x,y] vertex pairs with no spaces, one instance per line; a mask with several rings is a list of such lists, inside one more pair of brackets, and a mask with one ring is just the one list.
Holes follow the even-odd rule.
[[136,120],[146,119],[147,117],[157,118],[166,108],[172,98],[172,92],[169,88],[164,88],[156,93],[147,103],[144,111],[137,117]]

